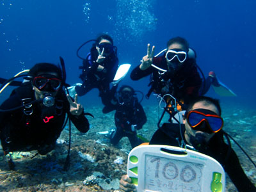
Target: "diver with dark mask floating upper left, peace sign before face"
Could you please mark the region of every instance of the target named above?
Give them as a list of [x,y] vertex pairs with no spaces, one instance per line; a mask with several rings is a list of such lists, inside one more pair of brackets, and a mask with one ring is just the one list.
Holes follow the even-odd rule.
[[[83,45],[91,41],[95,41],[95,44],[92,45],[90,53],[85,59],[81,58],[78,55],[79,50]],[[79,76],[83,84],[76,86],[76,93],[78,96],[82,96],[93,88],[98,88],[102,104],[113,107],[113,104],[116,104],[116,101],[112,99],[115,95],[117,84],[113,85],[109,90],[109,83],[113,81],[118,68],[117,48],[113,45],[111,36],[106,34],[88,42],[85,42],[77,49],[77,56],[83,60],[83,67],[80,67],[83,72]]]

